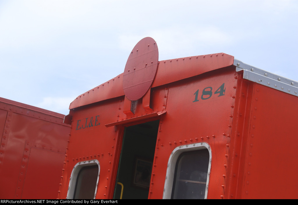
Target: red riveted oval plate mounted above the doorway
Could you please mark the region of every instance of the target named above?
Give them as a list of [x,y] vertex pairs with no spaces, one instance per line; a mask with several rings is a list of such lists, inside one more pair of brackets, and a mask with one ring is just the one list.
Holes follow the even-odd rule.
[[142,98],[154,80],[158,65],[158,47],[153,38],[140,40],[131,51],[123,73],[123,90],[130,100]]

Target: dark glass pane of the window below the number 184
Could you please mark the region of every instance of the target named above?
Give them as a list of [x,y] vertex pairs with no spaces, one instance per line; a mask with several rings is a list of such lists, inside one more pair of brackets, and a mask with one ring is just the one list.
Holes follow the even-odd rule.
[[208,166],[208,149],[182,152],[176,163],[171,198],[204,199]]

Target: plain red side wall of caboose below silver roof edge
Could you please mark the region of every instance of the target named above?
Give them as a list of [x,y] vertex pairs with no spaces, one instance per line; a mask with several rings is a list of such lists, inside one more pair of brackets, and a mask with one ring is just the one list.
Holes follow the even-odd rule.
[[298,198],[297,104],[255,84],[242,198]]

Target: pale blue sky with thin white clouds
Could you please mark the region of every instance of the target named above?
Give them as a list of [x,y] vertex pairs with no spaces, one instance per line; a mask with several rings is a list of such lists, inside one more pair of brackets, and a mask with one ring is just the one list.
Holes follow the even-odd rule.
[[159,61],[226,53],[298,81],[298,1],[0,1],[0,97],[64,115],[123,73],[147,36]]

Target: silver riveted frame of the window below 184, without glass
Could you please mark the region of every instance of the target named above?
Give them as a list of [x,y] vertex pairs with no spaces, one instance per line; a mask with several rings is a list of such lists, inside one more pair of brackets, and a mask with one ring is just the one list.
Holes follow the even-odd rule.
[[179,156],[181,155],[181,153],[188,152],[188,151],[194,151],[194,150],[198,150],[198,149],[208,149],[208,151],[209,151],[209,165],[208,165],[207,181],[206,181],[206,189],[205,189],[205,199],[207,199],[212,155],[211,155],[211,148],[210,148],[209,144],[207,144],[206,142],[181,145],[179,147],[176,147],[173,150],[173,152],[171,153],[171,155],[169,157],[168,164],[167,164],[167,172],[166,172],[166,177],[165,177],[165,182],[164,182],[164,192],[162,195],[163,199],[171,198],[176,163],[177,163],[177,160],[178,160]]

